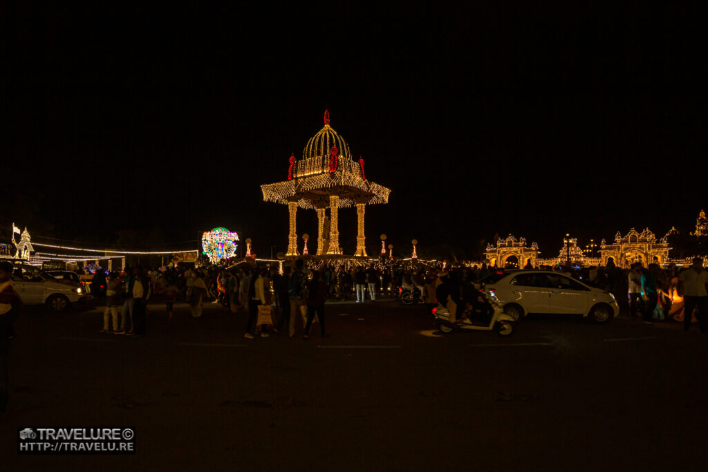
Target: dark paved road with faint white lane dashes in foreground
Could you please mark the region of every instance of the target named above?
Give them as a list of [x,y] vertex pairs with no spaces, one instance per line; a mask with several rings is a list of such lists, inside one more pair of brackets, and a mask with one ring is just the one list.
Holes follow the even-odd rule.
[[[330,338],[246,315],[31,309],[11,345],[3,470],[653,471],[708,460],[708,340],[675,323],[535,317],[436,335],[422,306],[329,304]],[[135,456],[18,456],[18,426],[133,426]]]

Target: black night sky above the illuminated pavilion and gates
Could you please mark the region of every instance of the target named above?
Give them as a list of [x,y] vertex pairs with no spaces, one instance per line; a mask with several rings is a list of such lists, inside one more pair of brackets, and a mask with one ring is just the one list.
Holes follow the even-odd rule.
[[[367,209],[371,248],[382,232],[464,251],[511,232],[550,256],[567,231],[661,235],[708,207],[691,11],[38,5],[7,8],[4,25],[2,155],[21,176],[6,190],[25,201],[3,226],[97,243],[227,226],[284,250],[287,208],[259,185],[287,178],[326,108],[367,178],[392,188]],[[314,212],[299,215],[316,234]],[[340,219],[351,253],[355,211]]]

